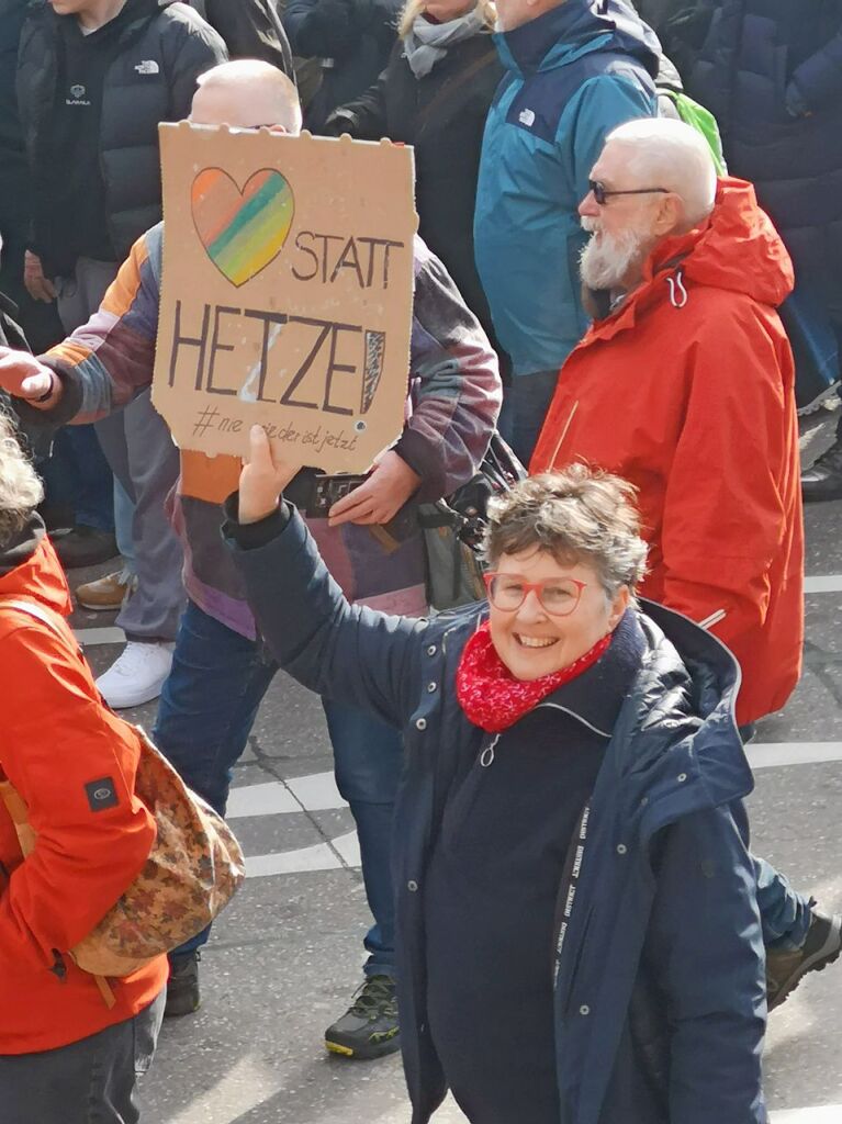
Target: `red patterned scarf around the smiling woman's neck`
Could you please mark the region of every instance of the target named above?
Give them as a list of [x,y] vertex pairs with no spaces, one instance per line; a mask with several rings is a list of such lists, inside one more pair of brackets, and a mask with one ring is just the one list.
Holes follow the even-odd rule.
[[541,679],[515,679],[497,654],[487,620],[471,636],[456,669],[456,698],[474,726],[499,734],[534,709],[547,695],[569,683],[596,663],[612,642],[612,633],[598,640],[585,655]]

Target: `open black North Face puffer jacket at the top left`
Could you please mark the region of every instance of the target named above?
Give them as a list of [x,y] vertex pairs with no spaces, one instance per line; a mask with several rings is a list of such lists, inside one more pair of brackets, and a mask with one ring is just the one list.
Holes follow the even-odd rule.
[[[35,178],[37,248],[45,243],[39,228],[48,220],[46,209],[38,207],[39,188],[45,174],[61,174],[48,166],[42,135],[55,102],[58,20],[67,18],[56,16],[45,0],[36,0],[18,53],[18,105]],[[105,80],[99,152],[108,234],[118,261],[161,219],[159,121],[187,117],[199,74],[227,57],[217,33],[174,0],[137,3],[137,16],[123,27],[119,52]],[[44,264],[49,271],[49,262]]]

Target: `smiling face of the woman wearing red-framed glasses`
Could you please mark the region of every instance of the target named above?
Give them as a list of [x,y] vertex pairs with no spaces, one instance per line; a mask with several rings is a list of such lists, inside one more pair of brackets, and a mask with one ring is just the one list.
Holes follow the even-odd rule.
[[515,679],[533,680],[569,667],[612,632],[628,606],[628,589],[623,586],[614,600],[603,588],[599,575],[581,562],[562,565],[549,552],[537,547],[517,554],[503,554],[492,566],[498,574],[513,574],[526,582],[569,579],[583,582],[585,589],[570,616],[546,611],[535,590],[514,611],[489,602],[491,641],[497,654]]

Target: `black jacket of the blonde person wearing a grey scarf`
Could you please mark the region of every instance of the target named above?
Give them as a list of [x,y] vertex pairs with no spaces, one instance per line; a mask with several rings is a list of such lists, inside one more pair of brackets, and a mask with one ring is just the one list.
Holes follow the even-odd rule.
[[414,146],[418,233],[442,259],[498,352],[473,260],[473,210],[482,130],[501,76],[490,35],[453,44],[424,78],[415,76],[398,42],[377,84],[341,107],[326,126],[336,136],[389,137]]

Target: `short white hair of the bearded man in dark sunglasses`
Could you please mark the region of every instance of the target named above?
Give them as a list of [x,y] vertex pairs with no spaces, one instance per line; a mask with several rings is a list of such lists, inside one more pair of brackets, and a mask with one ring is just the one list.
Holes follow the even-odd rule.
[[714,157],[707,140],[692,126],[669,117],[642,117],[618,126],[605,144],[622,144],[628,149],[626,166],[635,183],[667,188],[680,196],[689,226],[704,221],[714,209]]

